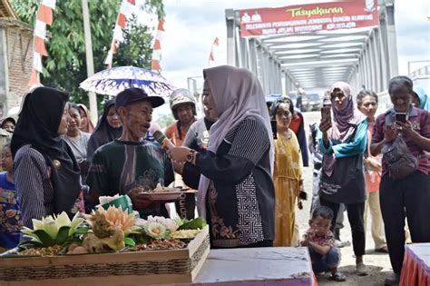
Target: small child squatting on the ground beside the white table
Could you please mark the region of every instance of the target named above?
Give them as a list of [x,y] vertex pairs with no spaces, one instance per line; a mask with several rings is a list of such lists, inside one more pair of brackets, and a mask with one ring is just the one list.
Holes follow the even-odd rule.
[[309,229],[303,236],[302,246],[307,246],[312,261],[312,269],[316,273],[330,271],[330,279],[346,281],[342,272],[337,271],[340,263],[340,251],[335,247],[335,236],[330,231],[333,212],[326,206],[318,207],[312,213]]

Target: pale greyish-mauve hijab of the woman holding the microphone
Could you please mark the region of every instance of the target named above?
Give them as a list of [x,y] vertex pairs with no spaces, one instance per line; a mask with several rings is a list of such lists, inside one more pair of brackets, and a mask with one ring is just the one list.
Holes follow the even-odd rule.
[[[208,150],[216,153],[227,133],[246,117],[259,118],[266,126],[270,140],[270,174],[273,174],[274,144],[268,107],[258,78],[247,69],[220,65],[203,70],[218,111],[218,121],[210,128]],[[206,193],[210,179],[200,176],[198,210],[206,218]]]

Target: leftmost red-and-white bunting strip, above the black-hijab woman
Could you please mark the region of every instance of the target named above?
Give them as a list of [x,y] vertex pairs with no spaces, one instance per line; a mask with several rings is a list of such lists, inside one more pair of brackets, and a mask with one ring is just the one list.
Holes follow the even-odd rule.
[[46,47],[44,46],[44,40],[46,40],[46,25],[53,25],[54,9],[55,0],[42,0],[39,5],[39,10],[37,10],[33,38],[33,71],[27,84],[27,86],[30,86],[30,89],[40,85],[39,74],[44,73],[42,55],[48,55]]

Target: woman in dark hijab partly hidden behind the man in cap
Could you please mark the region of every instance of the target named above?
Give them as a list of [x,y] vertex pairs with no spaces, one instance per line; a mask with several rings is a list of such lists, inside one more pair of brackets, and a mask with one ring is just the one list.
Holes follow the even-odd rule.
[[97,148],[110,143],[122,134],[120,117],[115,110],[115,101],[110,100],[104,104],[103,115],[97,123],[94,132],[91,134],[86,151],[86,160],[91,163],[93,154]]

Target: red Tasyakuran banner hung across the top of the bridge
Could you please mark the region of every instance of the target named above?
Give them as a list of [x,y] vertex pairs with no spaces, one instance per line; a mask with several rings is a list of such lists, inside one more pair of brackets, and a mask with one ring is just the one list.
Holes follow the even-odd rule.
[[378,25],[376,0],[239,10],[240,35],[294,35]]

